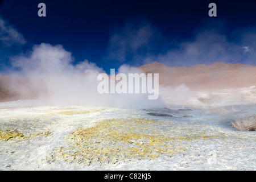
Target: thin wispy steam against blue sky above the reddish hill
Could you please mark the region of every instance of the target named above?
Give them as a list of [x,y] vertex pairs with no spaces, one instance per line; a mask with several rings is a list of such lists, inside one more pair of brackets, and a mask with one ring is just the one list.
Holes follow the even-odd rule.
[[136,66],[152,61],[172,67],[217,61],[256,65],[256,27],[228,31],[225,24],[221,20],[203,22],[184,39],[176,35],[166,38],[152,23],[131,20],[113,31],[108,59]]

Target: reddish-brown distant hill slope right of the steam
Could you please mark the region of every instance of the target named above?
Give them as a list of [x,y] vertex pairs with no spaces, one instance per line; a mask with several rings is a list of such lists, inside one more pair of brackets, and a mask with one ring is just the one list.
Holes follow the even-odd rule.
[[256,67],[245,64],[213,63],[192,67],[167,67],[154,62],[139,67],[145,73],[159,73],[159,84],[190,89],[226,89],[256,86]]

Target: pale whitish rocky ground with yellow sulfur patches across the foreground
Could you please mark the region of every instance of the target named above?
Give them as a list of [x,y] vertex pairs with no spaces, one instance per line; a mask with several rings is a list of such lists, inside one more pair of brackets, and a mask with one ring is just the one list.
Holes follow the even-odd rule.
[[[0,107],[1,170],[255,170],[256,105],[210,110]],[[26,104],[25,104],[26,105]]]

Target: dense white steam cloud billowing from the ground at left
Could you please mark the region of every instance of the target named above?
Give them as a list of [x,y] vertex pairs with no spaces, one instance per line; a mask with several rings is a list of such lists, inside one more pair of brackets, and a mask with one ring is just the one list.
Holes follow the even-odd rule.
[[[18,87],[24,98],[32,92],[40,102],[61,105],[85,105],[105,107],[162,107],[160,100],[150,101],[146,94],[100,94],[97,92],[97,76],[104,73],[96,64],[85,60],[72,64],[71,53],[62,46],[42,43],[34,46],[28,56],[13,57],[13,66],[19,75],[28,78],[26,86]],[[139,72],[137,68],[123,65],[123,73]],[[10,83],[15,89],[17,81]],[[17,88],[17,87],[16,87]],[[28,94],[28,95],[26,95]]]

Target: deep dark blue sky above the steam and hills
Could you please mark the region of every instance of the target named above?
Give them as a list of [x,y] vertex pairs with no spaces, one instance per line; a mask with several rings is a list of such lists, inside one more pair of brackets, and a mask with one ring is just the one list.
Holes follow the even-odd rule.
[[[38,16],[38,4],[40,2],[46,4],[46,17]],[[217,17],[209,17],[208,15],[208,5],[211,2],[217,5]],[[72,52],[75,60],[74,64],[88,59],[105,70],[118,68],[123,63],[139,66],[147,63],[145,60],[150,60],[150,58],[161,60],[167,55],[175,57],[179,55],[179,53],[176,53],[177,51],[181,51],[180,54],[183,55],[183,49],[187,50],[189,47],[184,47],[184,44],[189,42],[191,45],[198,45],[194,42],[198,43],[197,38],[201,38],[201,32],[212,29],[218,35],[225,35],[225,43],[237,44],[236,47],[248,47],[250,52],[256,51],[256,47],[253,47],[255,44],[248,42],[249,47],[246,44],[248,38],[243,39],[241,36],[241,34],[246,33],[246,27],[250,27],[248,30],[251,33],[250,35],[255,35],[256,1],[254,0],[3,0],[0,5],[0,15],[6,24],[20,32],[26,40],[26,44],[22,44],[22,46],[2,45],[0,47],[2,49],[0,51],[0,65],[2,68],[8,67],[9,56],[27,53],[32,46],[40,43],[61,44],[64,49]],[[212,26],[209,26],[209,24],[212,24]],[[130,39],[130,37],[133,37],[132,32],[138,32],[141,27],[147,27],[145,30],[154,34],[148,34],[149,38],[146,40],[146,43],[151,46],[142,44],[135,51],[134,47],[126,49],[130,44],[120,36]],[[113,45],[114,42],[111,39],[113,37],[118,37],[117,41],[119,43]],[[126,46],[124,48],[125,53],[122,52],[124,49],[119,49],[119,47],[124,46],[120,43],[122,41]],[[209,42],[209,44],[211,43]],[[173,49],[174,51],[170,52]],[[245,48],[242,50],[245,50]],[[117,53],[113,56],[115,51]],[[118,51],[123,53],[122,60],[118,60],[120,55],[119,57],[116,56],[119,53]],[[225,48],[226,52],[231,53],[228,47]],[[250,55],[244,57],[241,53],[240,60],[223,59],[223,61],[243,63],[243,59],[248,60],[248,56]],[[176,60],[170,59],[168,65],[183,65],[179,59],[176,58]],[[201,62],[201,60],[195,61],[196,64]],[[247,62],[256,64],[256,61],[251,59],[250,61],[244,61],[244,63]],[[168,59],[165,63],[168,63]]]

